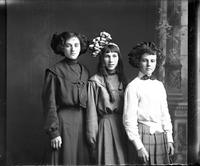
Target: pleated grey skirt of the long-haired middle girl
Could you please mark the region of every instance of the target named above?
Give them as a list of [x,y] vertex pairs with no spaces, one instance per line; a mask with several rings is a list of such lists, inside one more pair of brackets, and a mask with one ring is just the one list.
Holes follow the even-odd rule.
[[127,140],[122,117],[118,114],[104,115],[99,122],[98,164],[126,164]]

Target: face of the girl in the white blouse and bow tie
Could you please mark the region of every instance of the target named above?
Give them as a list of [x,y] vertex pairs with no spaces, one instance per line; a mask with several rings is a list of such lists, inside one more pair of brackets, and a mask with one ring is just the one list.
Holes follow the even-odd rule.
[[156,55],[143,54],[140,60],[140,71],[145,75],[152,75],[156,68]]

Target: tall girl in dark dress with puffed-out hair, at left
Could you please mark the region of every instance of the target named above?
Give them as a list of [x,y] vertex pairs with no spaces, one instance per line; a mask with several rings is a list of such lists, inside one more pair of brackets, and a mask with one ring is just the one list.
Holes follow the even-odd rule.
[[50,138],[48,164],[89,164],[85,139],[87,69],[77,58],[86,52],[84,35],[63,32],[54,34],[51,48],[63,60],[46,69],[43,87],[45,131]]

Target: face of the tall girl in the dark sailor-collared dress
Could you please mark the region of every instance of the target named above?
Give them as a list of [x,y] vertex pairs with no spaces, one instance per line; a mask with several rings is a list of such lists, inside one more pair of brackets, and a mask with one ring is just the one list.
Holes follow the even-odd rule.
[[65,42],[64,55],[65,57],[75,60],[78,58],[81,51],[80,40],[77,37],[72,37]]

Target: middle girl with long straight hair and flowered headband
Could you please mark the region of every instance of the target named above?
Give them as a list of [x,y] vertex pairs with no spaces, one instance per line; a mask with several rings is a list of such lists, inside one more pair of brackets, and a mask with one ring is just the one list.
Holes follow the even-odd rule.
[[88,82],[87,138],[96,152],[96,164],[126,164],[128,138],[122,123],[126,80],[120,49],[109,42],[99,53],[96,50],[93,56],[99,56],[98,73]]

